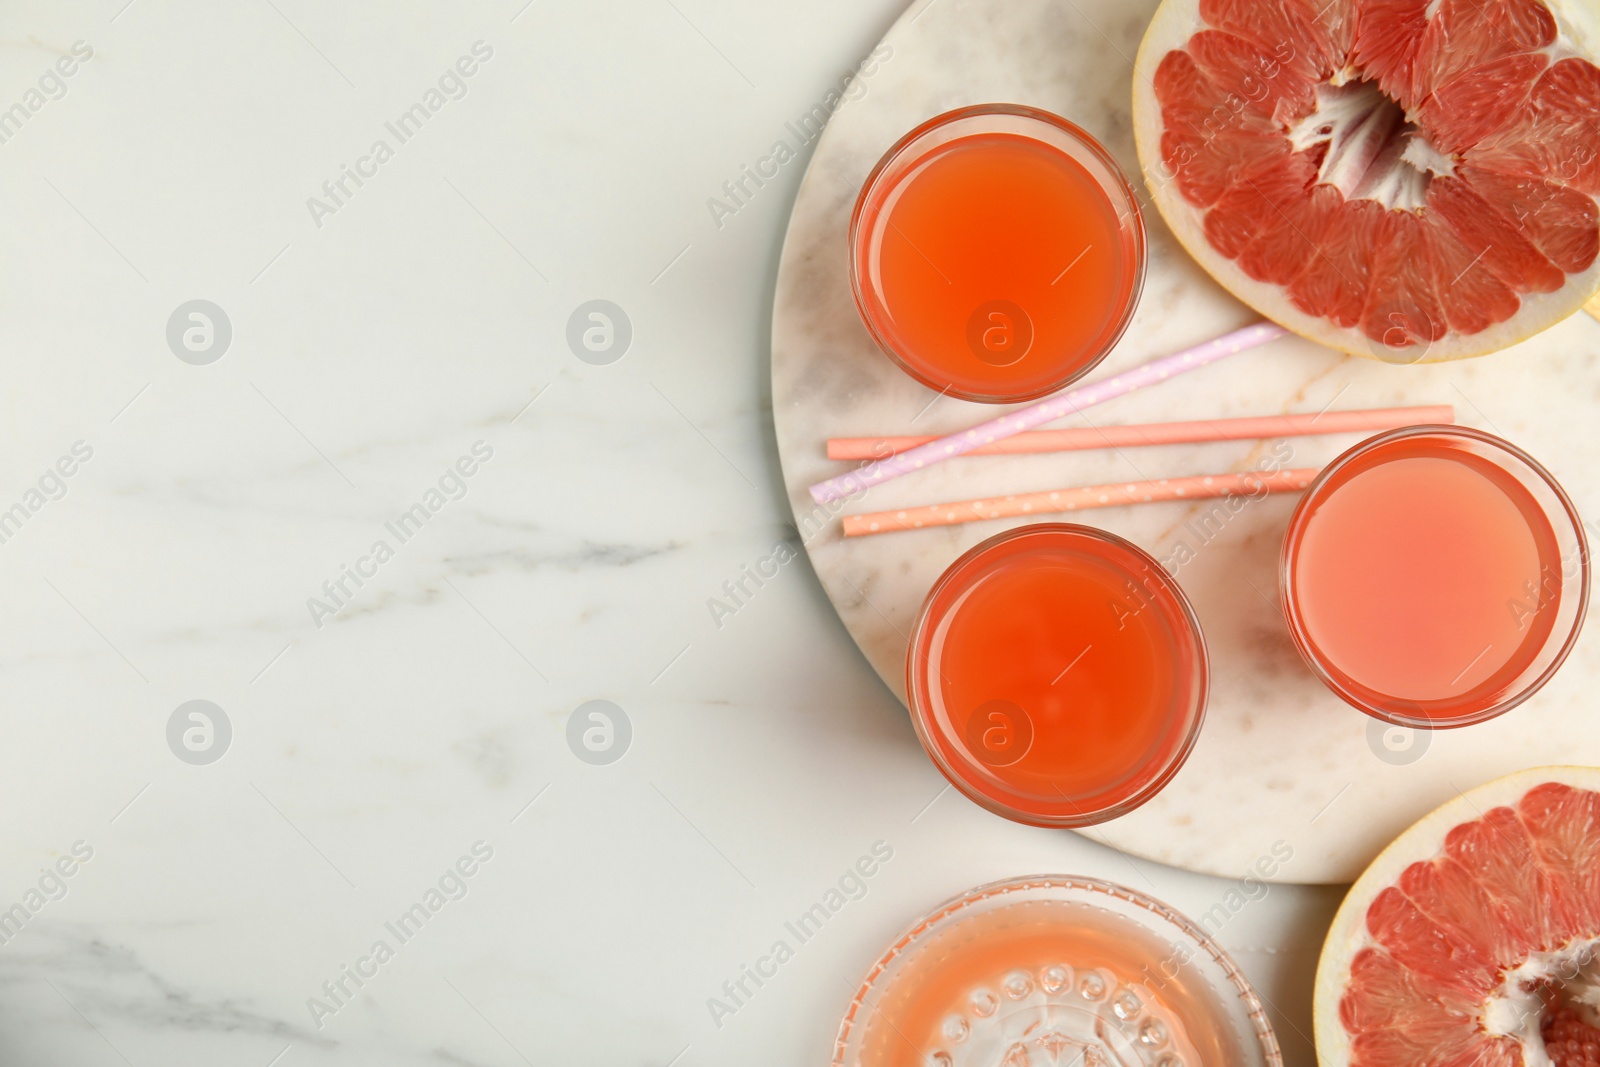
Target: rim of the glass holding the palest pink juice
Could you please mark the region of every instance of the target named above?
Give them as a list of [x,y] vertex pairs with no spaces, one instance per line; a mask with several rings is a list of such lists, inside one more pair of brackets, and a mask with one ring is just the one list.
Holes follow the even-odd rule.
[[[1528,470],[1550,490],[1555,499],[1562,506],[1562,515],[1552,515],[1549,509],[1541,509],[1550,520],[1565,518],[1578,539],[1578,606],[1573,616],[1573,624],[1565,637],[1560,638],[1560,648],[1555,657],[1539,672],[1538,677],[1518,686],[1517,693],[1498,701],[1496,704],[1472,712],[1469,715],[1456,715],[1448,718],[1429,718],[1426,715],[1405,715],[1402,712],[1378,707],[1373,701],[1366,699],[1362,693],[1354,689],[1350,685],[1339,677],[1331,664],[1323,662],[1323,656],[1317,651],[1315,643],[1306,629],[1304,613],[1299,606],[1299,598],[1294,592],[1294,558],[1296,549],[1299,547],[1306,526],[1310,522],[1312,502],[1318,499],[1320,493],[1325,490],[1328,482],[1331,482],[1339,472],[1346,470],[1350,464],[1360,461],[1362,458],[1371,454],[1378,448],[1392,445],[1394,442],[1408,440],[1414,437],[1443,437],[1443,438],[1459,438],[1474,442],[1477,445],[1485,445],[1490,450],[1506,453]],[[1509,474],[1517,475],[1518,472],[1510,470]],[[1518,478],[1520,480],[1520,478]],[[1555,523],[1552,522],[1552,526]],[[1288,624],[1290,638],[1294,641],[1294,648],[1299,651],[1301,659],[1310,667],[1317,680],[1328,686],[1334,696],[1342,699],[1350,707],[1371,715],[1373,718],[1389,723],[1392,726],[1403,726],[1408,729],[1459,729],[1462,726],[1475,726],[1477,723],[1485,723],[1493,718],[1499,718],[1506,712],[1520,707],[1530,697],[1533,697],[1544,685],[1555,677],[1562,664],[1571,654],[1578,643],[1578,635],[1584,629],[1584,619],[1589,614],[1589,537],[1584,533],[1584,520],[1578,514],[1578,507],[1573,499],[1562,488],[1562,483],[1555,480],[1555,475],[1546,469],[1538,459],[1525,453],[1517,445],[1512,445],[1502,437],[1488,434],[1485,430],[1474,429],[1470,426],[1454,426],[1448,422],[1424,422],[1418,426],[1403,426],[1395,430],[1386,430],[1368,437],[1349,450],[1341,453],[1333,462],[1322,469],[1322,472],[1306,486],[1306,494],[1301,498],[1299,504],[1294,507],[1294,514],[1290,517],[1290,525],[1283,533],[1283,549],[1278,553],[1278,600],[1283,608],[1283,619]],[[1549,648],[1557,638],[1555,633],[1546,643]],[[1542,649],[1541,649],[1542,651]],[[1370,689],[1376,693],[1376,689]],[[1400,699],[1400,697],[1397,697]],[[1413,701],[1414,704],[1414,701]]]

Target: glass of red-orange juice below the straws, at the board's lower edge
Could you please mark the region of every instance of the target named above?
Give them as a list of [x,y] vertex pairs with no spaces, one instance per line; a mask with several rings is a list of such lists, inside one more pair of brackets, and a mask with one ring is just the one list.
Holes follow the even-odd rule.
[[1091,526],[984,541],[928,593],[906,689],[923,747],[1018,822],[1125,814],[1182,766],[1205,715],[1205,638],[1160,563]]

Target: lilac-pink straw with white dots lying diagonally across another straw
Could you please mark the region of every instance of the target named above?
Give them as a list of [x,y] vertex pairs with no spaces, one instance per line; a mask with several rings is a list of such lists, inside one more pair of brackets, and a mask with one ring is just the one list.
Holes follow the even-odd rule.
[[1216,341],[1206,341],[1205,344],[1186,349],[1184,352],[1150,360],[1149,363],[1142,363],[1131,371],[1123,371],[1122,374],[1109,378],[1102,382],[1059,392],[1019,411],[1008,411],[998,419],[990,419],[989,422],[974,426],[970,430],[957,430],[949,437],[941,437],[939,440],[922,445],[920,448],[912,448],[885,459],[877,459],[864,467],[842,474],[837,478],[829,478],[827,482],[818,482],[811,486],[811,499],[818,504],[842,501],[848,496],[861,493],[862,490],[870,490],[874,485],[882,482],[890,482],[891,478],[910,474],[912,470],[931,467],[933,464],[944,462],[954,456],[965,456],[966,453],[982,448],[984,445],[992,445],[1000,438],[1014,437],[1016,434],[1032,430],[1034,427],[1053,422],[1054,419],[1067,414],[1075,414],[1098,403],[1125,397],[1136,389],[1163,382],[1174,374],[1182,374],[1186,371],[1202,368],[1206,363],[1224,360],[1237,352],[1243,352],[1245,349],[1254,349],[1256,346],[1267,344],[1269,341],[1277,341],[1286,333],[1288,331],[1283,330],[1283,326],[1269,322],[1235,330],[1234,333],[1221,336]]

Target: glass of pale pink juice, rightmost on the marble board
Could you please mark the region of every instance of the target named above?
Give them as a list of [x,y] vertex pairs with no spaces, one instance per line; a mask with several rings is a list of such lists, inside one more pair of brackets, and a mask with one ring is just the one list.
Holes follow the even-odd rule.
[[1414,426],[1339,456],[1290,522],[1283,613],[1310,669],[1389,723],[1448,728],[1555,673],[1589,605],[1589,547],[1544,467],[1491,434]]

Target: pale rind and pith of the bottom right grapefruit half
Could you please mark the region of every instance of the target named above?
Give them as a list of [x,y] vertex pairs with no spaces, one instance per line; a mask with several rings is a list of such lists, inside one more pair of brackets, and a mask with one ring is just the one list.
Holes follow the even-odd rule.
[[[1366,931],[1366,910],[1378,893],[1395,885],[1411,864],[1443,853],[1445,837],[1454,827],[1480,819],[1493,808],[1515,806],[1528,790],[1544,782],[1600,792],[1600,768],[1538,766],[1459,793],[1400,833],[1355,880],[1333,918],[1333,926],[1328,928],[1328,939],[1317,963],[1312,1033],[1320,1067],[1347,1067],[1350,1062],[1350,1035],[1339,1021],[1339,1001],[1350,976],[1350,963],[1362,949],[1373,944]],[[1600,931],[1594,934],[1600,937]],[[1544,1064],[1528,1059],[1525,1067],[1544,1067]]]

